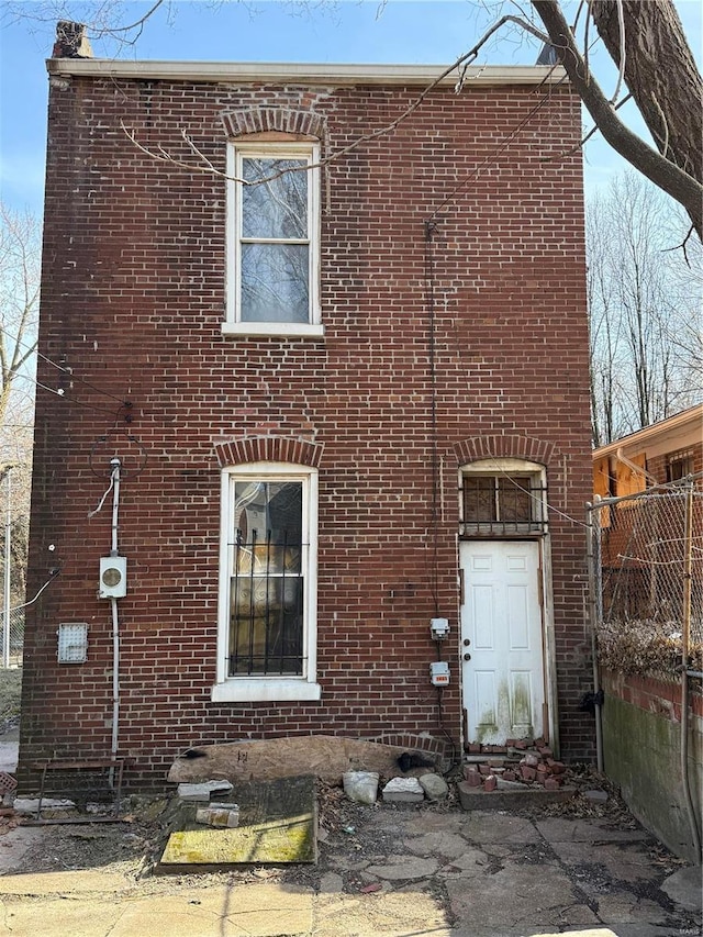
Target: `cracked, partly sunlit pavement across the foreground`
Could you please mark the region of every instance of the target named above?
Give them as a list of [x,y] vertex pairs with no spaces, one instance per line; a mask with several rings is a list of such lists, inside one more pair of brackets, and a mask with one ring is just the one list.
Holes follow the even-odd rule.
[[[426,804],[357,805],[354,821],[350,828],[321,828],[316,866],[246,874],[138,878],[129,866],[107,862],[18,873],[5,861],[0,937],[701,933],[700,908],[662,890],[671,865],[661,862],[661,847],[641,828]],[[71,834],[53,827],[51,834],[20,828],[8,834],[13,835],[27,837],[35,849],[51,836],[52,848],[60,851],[62,837]],[[695,893],[700,869],[690,872]]]

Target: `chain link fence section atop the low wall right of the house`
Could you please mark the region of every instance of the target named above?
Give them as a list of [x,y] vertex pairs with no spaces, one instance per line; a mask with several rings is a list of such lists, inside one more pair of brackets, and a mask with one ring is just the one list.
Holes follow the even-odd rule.
[[703,668],[702,479],[589,506],[600,662],[623,673]]

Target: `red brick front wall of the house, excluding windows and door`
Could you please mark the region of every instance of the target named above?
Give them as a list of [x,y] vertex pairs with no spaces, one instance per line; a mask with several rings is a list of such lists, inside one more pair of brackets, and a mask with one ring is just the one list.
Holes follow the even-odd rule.
[[[549,500],[577,518],[550,515],[559,717],[562,755],[591,754],[592,720],[578,709],[590,689],[581,166],[563,156],[580,134],[576,97],[555,88],[537,107],[545,89],[436,90],[393,134],[333,163],[322,182],[323,341],[221,335],[224,182],[149,159],[120,129],[123,121],[178,157],[188,155],[186,129],[224,169],[223,112],[252,102],[312,109],[336,149],[392,120],[417,90],[54,82],[41,353],[72,376],[40,359],[40,383],[64,393],[37,394],[31,583],[60,572],[27,615],[24,766],[110,750],[111,621],[96,592],[111,499],[87,515],[115,454],[130,564],[119,603],[129,783],[160,782],[190,745],[236,738],[428,733],[458,747],[456,453],[464,440],[504,436],[540,440]],[[435,599],[424,222],[437,209],[437,607],[453,627],[442,711],[427,677]],[[210,702],[213,440],[260,433],[324,446],[319,703]],[[89,624],[83,665],[56,662],[65,621]]]

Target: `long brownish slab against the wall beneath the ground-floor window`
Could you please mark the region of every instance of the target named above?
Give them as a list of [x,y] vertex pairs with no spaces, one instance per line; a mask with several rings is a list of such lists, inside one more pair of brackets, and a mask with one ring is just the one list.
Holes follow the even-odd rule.
[[[338,784],[345,771],[377,771],[393,778],[402,773],[398,758],[408,749],[355,738],[312,735],[203,745],[191,751],[197,751],[198,757],[185,754],[177,758],[168,772],[169,781],[197,783],[227,778],[234,782],[314,774]],[[423,774],[427,771],[426,768],[413,770]]]

